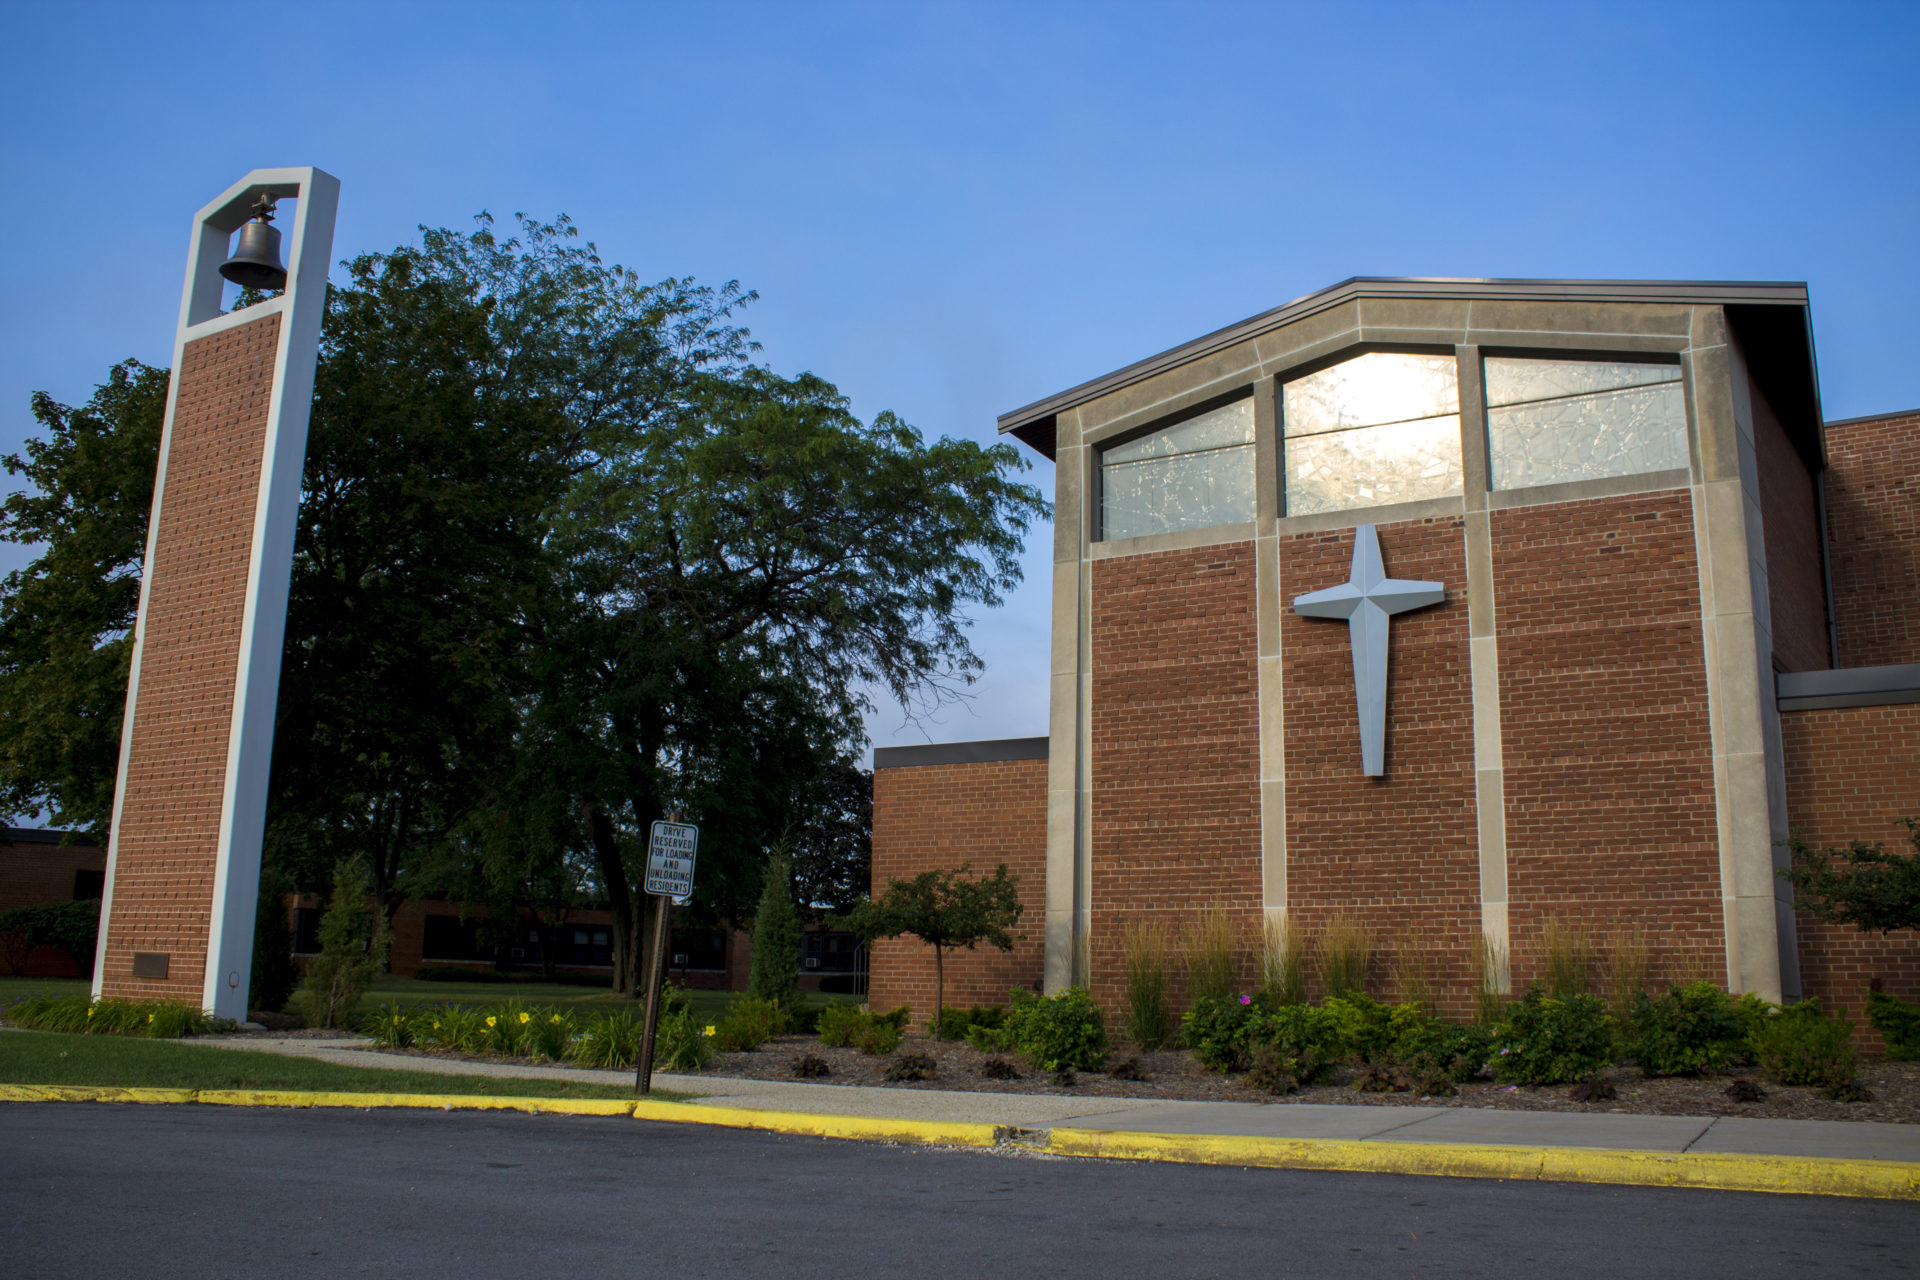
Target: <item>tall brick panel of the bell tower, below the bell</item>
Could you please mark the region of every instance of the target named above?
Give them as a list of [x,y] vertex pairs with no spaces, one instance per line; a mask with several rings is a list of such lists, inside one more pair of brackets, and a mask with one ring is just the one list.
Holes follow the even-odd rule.
[[[102,990],[202,998],[240,620],[280,317],[186,344],[148,572]],[[134,979],[134,952],[171,958]]]

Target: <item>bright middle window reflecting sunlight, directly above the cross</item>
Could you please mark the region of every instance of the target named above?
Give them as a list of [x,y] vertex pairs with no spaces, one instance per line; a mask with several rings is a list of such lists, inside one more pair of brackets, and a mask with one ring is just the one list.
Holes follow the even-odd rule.
[[1459,367],[1369,351],[1281,388],[1286,514],[1461,491]]

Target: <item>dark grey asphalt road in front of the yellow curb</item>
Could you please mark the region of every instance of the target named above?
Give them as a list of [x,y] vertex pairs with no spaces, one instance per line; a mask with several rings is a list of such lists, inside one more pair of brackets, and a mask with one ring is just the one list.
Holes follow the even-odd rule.
[[1851,1276],[1920,1205],[597,1117],[0,1105],[0,1276]]

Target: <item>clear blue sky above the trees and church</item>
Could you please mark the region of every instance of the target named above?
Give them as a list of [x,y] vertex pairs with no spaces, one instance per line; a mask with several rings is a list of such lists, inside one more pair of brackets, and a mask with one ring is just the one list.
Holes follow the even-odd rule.
[[[33,390],[167,361],[192,211],[300,163],[342,180],[336,259],[564,211],[758,290],[768,365],[927,434],[1354,274],[1807,280],[1828,416],[1920,405],[1914,4],[69,2],[0,36],[0,451]],[[877,743],[1044,733],[1048,541],[973,700]]]

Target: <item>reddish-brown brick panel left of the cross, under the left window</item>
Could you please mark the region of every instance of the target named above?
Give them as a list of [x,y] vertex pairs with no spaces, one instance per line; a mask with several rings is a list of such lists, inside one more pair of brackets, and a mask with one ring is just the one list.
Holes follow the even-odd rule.
[[1261,896],[1254,626],[1252,543],[1092,564],[1091,990],[1108,1011],[1125,1006],[1131,919],[1179,933],[1223,908],[1250,965]]

